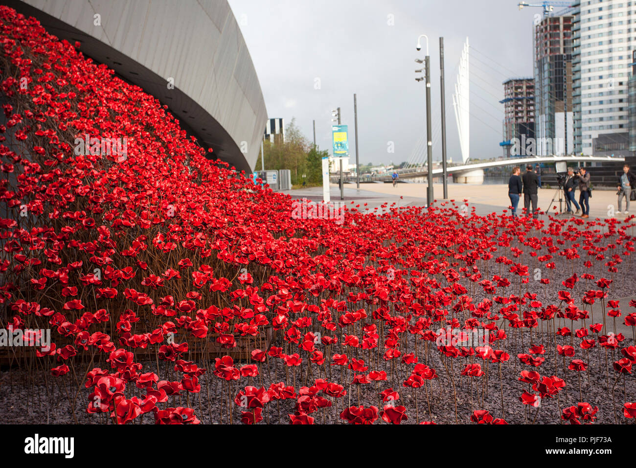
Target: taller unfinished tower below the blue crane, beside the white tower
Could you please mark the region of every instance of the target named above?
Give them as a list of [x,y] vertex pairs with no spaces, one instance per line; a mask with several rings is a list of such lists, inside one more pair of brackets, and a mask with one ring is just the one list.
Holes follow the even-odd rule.
[[534,27],[534,104],[538,155],[574,151],[572,114],[572,21],[544,17]]

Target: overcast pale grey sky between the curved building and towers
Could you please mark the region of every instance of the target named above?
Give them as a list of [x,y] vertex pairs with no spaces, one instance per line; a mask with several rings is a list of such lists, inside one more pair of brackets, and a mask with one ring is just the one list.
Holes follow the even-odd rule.
[[[331,110],[342,108],[355,157],[357,93],[360,162],[408,160],[425,138],[425,86],[417,36],[431,55],[433,158],[441,158],[439,36],[445,44],[448,157],[459,160],[452,93],[466,37],[471,45],[471,157],[501,155],[502,82],[532,76],[532,25],[541,8],[518,0],[230,0],[258,74],[270,118],[296,124],[331,153]],[[419,76],[419,75],[418,75]],[[319,80],[319,82],[317,81]],[[319,84],[319,89],[317,88]],[[389,142],[394,153],[389,153]],[[422,147],[424,148],[424,147]]]

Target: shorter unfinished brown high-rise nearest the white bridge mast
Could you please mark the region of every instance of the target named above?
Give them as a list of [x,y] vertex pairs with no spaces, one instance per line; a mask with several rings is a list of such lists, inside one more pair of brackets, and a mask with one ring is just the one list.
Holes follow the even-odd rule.
[[[525,155],[525,141],[534,137],[534,79],[511,78],[504,83],[504,157]],[[515,145],[515,140],[516,145]],[[522,151],[518,151],[521,145]]]

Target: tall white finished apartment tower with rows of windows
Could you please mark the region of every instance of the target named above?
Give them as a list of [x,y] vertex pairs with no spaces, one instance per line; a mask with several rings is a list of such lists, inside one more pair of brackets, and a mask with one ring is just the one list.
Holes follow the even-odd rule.
[[574,152],[625,156],[636,0],[574,0],[572,6]]

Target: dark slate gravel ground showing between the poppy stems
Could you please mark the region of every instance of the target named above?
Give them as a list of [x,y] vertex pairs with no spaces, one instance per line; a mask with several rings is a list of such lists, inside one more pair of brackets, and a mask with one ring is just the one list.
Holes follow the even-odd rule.
[[[536,236],[541,236],[541,232],[532,233]],[[611,241],[608,240],[609,243]],[[521,248],[521,247],[520,247]],[[539,281],[533,280],[533,271],[536,267],[541,265],[533,265],[535,259],[531,259],[529,256],[530,250],[523,248],[524,253],[522,257],[518,259],[518,262],[529,264],[530,268],[530,282],[522,285],[522,292],[530,292],[531,294],[537,294],[537,299],[543,301],[544,305],[556,303],[556,293],[558,290],[562,290],[563,286],[561,281],[568,278],[572,271],[577,271],[581,274],[583,271],[595,274],[597,278],[605,277],[614,280],[609,289],[609,299],[618,299],[620,297],[627,297],[630,295],[636,295],[636,281],[627,274],[621,274],[623,271],[633,271],[632,269],[632,257],[625,257],[623,264],[619,265],[618,274],[607,273],[606,267],[603,266],[603,262],[597,261],[591,269],[584,269],[581,266],[586,258],[581,255],[581,259],[565,260],[563,257],[558,257],[555,254],[555,258],[552,260],[556,262],[556,269],[542,270],[541,273],[544,277],[550,278],[550,284],[544,285]],[[501,252],[509,255],[509,252]],[[613,252],[612,252],[613,253]],[[618,250],[616,253],[621,253]],[[492,260],[486,263],[481,262],[478,264],[480,270],[484,274],[484,277],[492,277],[493,274],[501,274],[501,276],[508,277],[513,285],[508,290],[501,291],[503,294],[518,294],[518,278],[508,273],[508,267],[501,264],[495,264],[495,258],[500,253],[495,253]],[[539,255],[543,255],[540,253]],[[509,255],[510,256],[510,255]],[[609,257],[609,255],[607,255]],[[488,273],[487,273],[488,272]],[[473,297],[473,302],[477,304],[484,297],[485,294],[481,287],[476,287],[474,283],[470,281],[462,280],[464,286],[469,290],[469,295]],[[573,297],[581,297],[583,292],[587,289],[597,289],[597,286],[593,281],[581,280],[577,283],[577,286],[572,290]],[[500,294],[500,291],[498,291]],[[583,308],[583,304],[577,304]],[[589,306],[587,308],[589,310]],[[621,309],[623,315],[626,315],[632,311],[628,307],[628,304],[621,303]],[[466,318],[466,317],[463,317]],[[460,317],[460,320],[463,319]],[[601,317],[595,315],[595,320],[588,320],[586,326],[589,327],[591,323],[601,321]],[[608,319],[610,320],[610,319]],[[368,318],[366,322],[369,322]],[[619,323],[623,322],[623,318],[618,319]],[[500,322],[501,323],[501,322]],[[612,322],[607,322],[608,331],[612,330]],[[557,321],[556,327],[567,326],[570,327],[569,321]],[[574,329],[581,328],[582,323],[574,323]],[[624,326],[623,326],[624,327]],[[436,326],[434,329],[438,329]],[[460,371],[465,367],[467,359],[470,358],[456,358],[453,362],[453,371],[455,392],[457,395],[457,422],[458,423],[470,423],[470,415],[473,410],[487,409],[490,411],[494,418],[503,417],[508,423],[559,423],[561,409],[576,405],[581,401],[579,398],[579,375],[575,371],[569,371],[563,369],[563,361],[561,357],[556,358],[553,345],[553,338],[548,334],[541,332],[541,324],[538,329],[532,334],[533,344],[545,344],[546,353],[542,356],[545,358],[545,362],[539,367],[529,367],[522,364],[517,358],[518,353],[528,353],[530,347],[529,332],[526,330],[523,334],[518,331],[508,329],[509,338],[505,341],[498,341],[494,347],[495,349],[503,349],[511,355],[511,359],[502,365],[502,386],[499,384],[499,374],[497,366],[494,364],[488,365],[488,378],[480,377],[472,379],[472,392],[471,383],[466,377],[460,377]],[[545,328],[547,330],[547,328]],[[319,330],[314,330],[319,331]],[[632,334],[630,329],[626,329],[625,341],[621,343],[621,348],[633,345]],[[415,337],[408,335],[408,343],[403,343],[401,350],[403,353],[410,353],[415,350]],[[380,346],[382,346],[383,337],[380,336]],[[427,387],[429,392],[429,399],[431,406],[431,414],[429,415],[429,404],[427,402],[426,392],[424,388],[418,388],[413,390],[410,387],[404,387],[403,381],[408,378],[413,364],[405,365],[401,364],[399,359],[394,359],[391,362],[385,362],[382,359],[382,355],[377,355],[377,350],[369,355],[366,351],[358,350],[359,355],[356,355],[356,350],[351,348],[341,348],[341,344],[338,343],[336,348],[331,350],[331,353],[326,353],[326,356],[330,356],[333,353],[347,353],[349,357],[356,356],[362,358],[366,365],[369,365],[369,370],[387,372],[388,381],[382,381],[378,385],[375,382],[365,385],[345,385],[347,395],[340,399],[335,400],[334,406],[331,408],[319,409],[311,416],[315,417],[316,423],[343,423],[340,420],[339,413],[343,409],[343,405],[349,406],[363,404],[365,407],[375,405],[381,408],[380,401],[378,400],[378,389],[380,391],[387,388],[393,388],[399,392],[399,401],[397,405],[403,405],[406,407],[406,414],[408,420],[403,423],[416,423],[422,421],[432,420],[436,423],[455,423],[455,399],[453,398],[453,382],[448,378],[445,367],[440,360],[439,353],[432,348],[429,350],[429,356],[424,357],[424,341],[418,342],[418,357],[420,362],[429,365],[436,369],[438,374],[437,379],[432,380]],[[598,406],[597,423],[627,423],[632,420],[626,420],[623,416],[622,406],[623,402],[636,401],[636,378],[634,374],[627,374],[625,379],[620,378],[616,381],[614,386],[614,379],[616,378],[616,372],[612,369],[612,363],[618,358],[622,357],[619,351],[609,351],[607,355],[607,367],[605,365],[605,351],[593,348],[590,350],[589,355],[584,355],[578,346],[580,339],[574,338],[574,347],[576,349],[575,358],[583,358],[585,362],[589,364],[588,371],[580,373],[581,377],[581,394],[583,395],[583,401],[589,402],[592,406]],[[570,344],[570,338],[558,337],[558,344]],[[406,345],[406,346],[405,346]],[[324,345],[318,346],[319,350],[324,350]],[[384,352],[384,350],[382,350]],[[298,349],[284,350],[286,353],[298,352]],[[371,358],[370,358],[371,356]],[[296,389],[301,385],[311,385],[315,378],[326,378],[329,381],[335,381],[344,385],[344,382],[349,383],[352,381],[352,371],[347,369],[341,369],[339,366],[324,365],[322,369],[319,369],[317,365],[312,364],[311,377],[307,375],[307,353],[301,352],[303,357],[303,365],[296,368],[296,374],[294,376],[293,369],[287,369],[284,367],[282,361],[271,360],[270,362],[261,366],[261,376],[257,378],[241,378],[239,383],[233,383],[230,394],[235,396],[240,388],[245,385],[261,386],[265,385],[267,388],[271,383],[287,382],[287,385],[294,385]],[[473,358],[476,363],[483,364],[483,361],[479,357]],[[569,364],[567,358],[565,365]],[[274,362],[276,361],[276,362]],[[199,367],[204,367],[209,371],[213,369],[214,362],[197,362]],[[153,371],[156,372],[156,364],[154,361],[144,362],[144,369],[142,372]],[[235,362],[235,365],[239,367],[245,364],[245,362]],[[161,364],[160,375],[165,378],[165,364]],[[99,365],[98,365],[99,367]],[[102,364],[102,369],[107,367]],[[302,368],[302,369],[301,369]],[[326,369],[326,370],[325,370]],[[483,365],[483,369],[486,370],[486,366]],[[530,408],[525,406],[519,401],[520,395],[524,390],[528,390],[528,384],[518,381],[519,372],[522,370],[538,371],[542,376],[555,375],[560,378],[565,378],[567,387],[559,392],[559,398],[546,399],[541,402],[538,408]],[[450,369],[449,369],[450,370]],[[190,394],[189,397],[185,395],[183,397],[170,397],[169,401],[165,404],[160,404],[161,408],[175,407],[175,406],[191,406],[195,409],[197,417],[204,423],[228,423],[230,417],[228,415],[228,383],[216,378],[211,372],[206,372],[200,377],[201,391],[198,394]],[[289,372],[289,374],[287,374]],[[359,373],[368,373],[359,372]],[[30,376],[30,377],[29,377]],[[174,375],[174,372],[170,371],[167,375],[168,379],[177,379],[179,376]],[[262,381],[261,381],[262,378]],[[487,385],[486,385],[487,382]],[[88,415],[86,414],[86,406],[88,404],[88,394],[84,385],[84,380],[81,375],[78,375],[78,379],[73,378],[73,374],[69,373],[64,378],[53,378],[50,374],[43,374],[43,371],[26,372],[20,369],[11,369],[7,371],[3,369],[0,372],[0,401],[3,402],[4,407],[4,423],[73,423],[75,420],[79,423],[99,423],[104,422],[103,416]],[[79,384],[79,385],[78,385]],[[71,401],[74,400],[76,391],[78,390],[78,396],[75,403],[74,416],[69,408],[71,408]],[[129,385],[131,388],[132,385]],[[612,402],[612,387],[614,388],[614,401],[616,403],[616,413],[614,412],[614,402]],[[532,392],[532,390],[530,390]],[[186,392],[182,392],[185,394]],[[502,397],[504,409],[502,411]],[[133,394],[127,394],[130,398],[133,395],[139,397],[142,396],[141,390],[134,389]],[[417,409],[416,409],[416,394],[417,394]],[[472,398],[471,398],[472,394]],[[67,396],[67,395],[70,395]],[[289,423],[289,413],[294,412],[296,406],[295,399],[287,399],[284,401],[274,401],[266,404],[265,411],[263,411],[263,423]],[[232,402],[232,423],[240,423],[240,408]],[[75,419],[76,418],[76,419]],[[153,415],[148,414],[137,420],[136,422],[153,423]],[[378,423],[382,422],[378,419]]]

